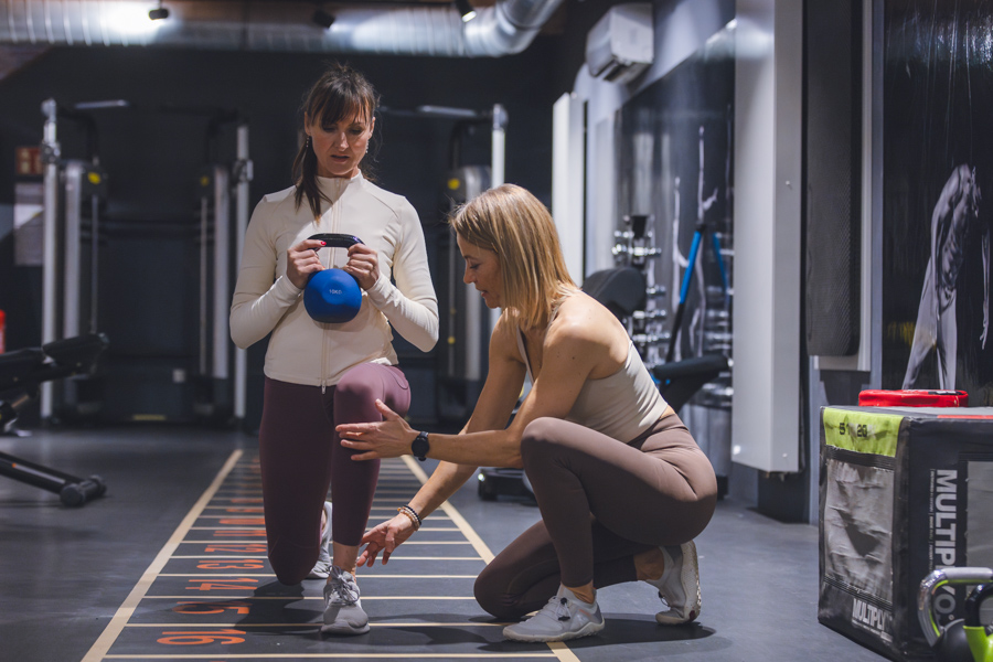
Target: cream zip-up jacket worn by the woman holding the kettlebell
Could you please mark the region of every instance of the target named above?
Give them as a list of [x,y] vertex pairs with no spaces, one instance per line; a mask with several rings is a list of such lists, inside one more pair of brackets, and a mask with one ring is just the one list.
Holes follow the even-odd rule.
[[[361,363],[396,365],[392,329],[429,351],[438,341],[438,299],[413,205],[361,174],[318,179],[331,199],[320,218],[306,199],[295,209],[295,188],[270,193],[255,207],[231,305],[231,338],[245,349],[271,333],[266,376],[323,387]],[[342,324],[312,320],[303,290],[286,277],[287,249],[325,232],[355,235],[378,254],[378,280],[363,291],[359,314]],[[348,261],[345,248],[321,248],[318,255],[325,267]]]

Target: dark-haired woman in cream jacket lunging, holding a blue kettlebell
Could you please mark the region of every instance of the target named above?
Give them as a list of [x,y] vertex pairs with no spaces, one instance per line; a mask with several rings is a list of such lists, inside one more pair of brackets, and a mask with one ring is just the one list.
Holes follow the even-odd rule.
[[[401,414],[409,408],[393,329],[425,352],[438,340],[417,212],[362,174],[376,105],[372,85],[348,66],[332,65],[311,87],[295,185],[256,206],[231,306],[237,346],[271,333],[258,438],[269,563],[282,584],[328,578],[321,631],[335,634],[369,631],[355,569],[380,467],[352,462],[334,427],[382,420],[376,401]],[[308,239],[318,233],[363,243],[321,249]],[[320,323],[305,310],[308,279],[331,267],[363,290],[351,321]]]

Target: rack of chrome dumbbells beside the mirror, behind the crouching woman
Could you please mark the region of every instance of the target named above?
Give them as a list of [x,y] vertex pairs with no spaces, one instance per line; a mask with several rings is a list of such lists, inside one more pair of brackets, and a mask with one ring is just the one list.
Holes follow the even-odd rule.
[[669,311],[662,301],[665,298],[665,286],[654,282],[654,270],[648,269],[651,259],[660,257],[662,249],[654,243],[654,216],[631,214],[623,217],[624,229],[615,231],[615,265],[634,267],[641,270],[648,287],[645,289],[645,308],[634,310],[624,318],[628,335],[638,348],[641,360],[649,370],[662,363],[660,349],[669,342],[670,333],[663,327]]

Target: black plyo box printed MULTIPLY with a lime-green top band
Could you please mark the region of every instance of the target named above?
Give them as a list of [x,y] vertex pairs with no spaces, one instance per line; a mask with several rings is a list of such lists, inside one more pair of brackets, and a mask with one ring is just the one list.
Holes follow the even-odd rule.
[[[822,407],[818,620],[900,662],[932,660],[920,581],[993,567],[993,407]],[[963,617],[944,587],[936,621]]]

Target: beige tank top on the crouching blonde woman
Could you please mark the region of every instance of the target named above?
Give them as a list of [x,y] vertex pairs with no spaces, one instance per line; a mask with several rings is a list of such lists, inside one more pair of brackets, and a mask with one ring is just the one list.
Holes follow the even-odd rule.
[[[534,382],[524,334],[517,330],[517,349],[527,376]],[[566,420],[578,423],[627,444],[662,417],[668,405],[641,361],[634,343],[628,341],[624,366],[601,380],[587,380]]]

